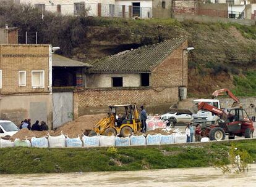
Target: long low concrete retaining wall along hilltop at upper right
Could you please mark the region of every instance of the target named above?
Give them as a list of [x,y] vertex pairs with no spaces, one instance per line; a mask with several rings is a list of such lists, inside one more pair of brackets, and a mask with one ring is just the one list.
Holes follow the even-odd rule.
[[203,16],[203,15],[185,15],[185,14],[175,14],[173,16],[176,18],[179,22],[182,22],[184,20],[194,20],[196,22],[202,22],[202,23],[238,23],[240,25],[255,25],[254,20],[239,20],[239,19],[229,19],[229,18],[222,18],[222,17],[209,17],[209,16]]

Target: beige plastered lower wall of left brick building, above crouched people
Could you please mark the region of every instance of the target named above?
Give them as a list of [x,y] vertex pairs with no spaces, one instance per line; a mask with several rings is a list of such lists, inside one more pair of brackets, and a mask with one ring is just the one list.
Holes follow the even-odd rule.
[[[46,121],[51,128],[52,124],[52,95],[2,95],[0,100],[1,119],[9,119],[20,124],[23,119]],[[38,107],[42,106],[42,107]],[[46,106],[46,107],[45,107]],[[32,111],[36,108],[36,111]]]

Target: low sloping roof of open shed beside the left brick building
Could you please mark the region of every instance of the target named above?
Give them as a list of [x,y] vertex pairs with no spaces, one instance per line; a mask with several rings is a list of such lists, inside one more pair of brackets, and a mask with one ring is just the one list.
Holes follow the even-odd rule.
[[77,60],[63,57],[58,54],[53,54],[53,66],[57,67],[90,67],[88,63],[83,63]]

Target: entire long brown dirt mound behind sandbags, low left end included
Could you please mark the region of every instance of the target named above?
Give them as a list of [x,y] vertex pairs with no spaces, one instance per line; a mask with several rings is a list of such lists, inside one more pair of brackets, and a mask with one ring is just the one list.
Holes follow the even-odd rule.
[[25,140],[27,137],[30,140],[32,137],[43,137],[49,135],[58,136],[62,133],[68,135],[70,138],[76,138],[78,135],[82,136],[83,132],[93,127],[99,122],[106,114],[84,115],[80,116],[75,121],[67,122],[56,130],[49,131],[32,131],[28,129],[21,129],[11,137],[12,140],[19,138]]

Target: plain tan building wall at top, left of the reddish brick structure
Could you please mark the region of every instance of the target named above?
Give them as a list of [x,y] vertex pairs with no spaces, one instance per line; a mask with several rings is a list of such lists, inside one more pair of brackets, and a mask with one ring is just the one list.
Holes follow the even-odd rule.
[[[162,2],[165,2],[165,9],[162,7]],[[152,14],[153,18],[171,18],[173,1],[153,0]]]

